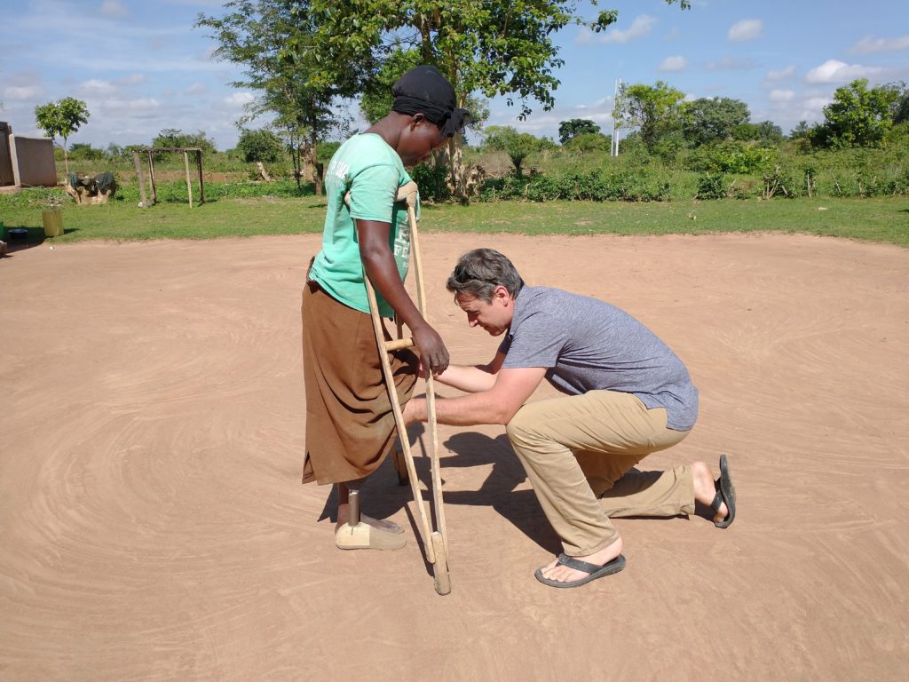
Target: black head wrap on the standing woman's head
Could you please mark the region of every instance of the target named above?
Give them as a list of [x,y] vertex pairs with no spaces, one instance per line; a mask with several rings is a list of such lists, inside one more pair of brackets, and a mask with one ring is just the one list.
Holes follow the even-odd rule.
[[430,123],[442,128],[448,137],[469,125],[472,117],[466,109],[455,106],[454,87],[435,66],[417,66],[392,85],[398,114],[423,114]]

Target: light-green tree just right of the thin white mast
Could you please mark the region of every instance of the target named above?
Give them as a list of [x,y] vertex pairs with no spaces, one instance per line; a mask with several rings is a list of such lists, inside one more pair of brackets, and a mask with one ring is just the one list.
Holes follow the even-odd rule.
[[613,116],[621,127],[637,128],[647,151],[653,152],[662,137],[682,127],[684,93],[664,81],[655,85],[622,85]]

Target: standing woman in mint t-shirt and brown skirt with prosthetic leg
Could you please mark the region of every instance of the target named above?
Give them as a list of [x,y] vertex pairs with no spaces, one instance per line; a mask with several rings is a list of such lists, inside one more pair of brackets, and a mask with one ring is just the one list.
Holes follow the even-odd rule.
[[[380,314],[403,321],[419,351],[419,357],[404,349],[391,358],[402,404],[410,399],[421,366],[433,373],[448,366],[442,338],[404,287],[410,231],[405,202],[396,197],[401,187],[412,183],[405,167],[419,164],[445,145],[469,123],[469,115],[455,106],[454,88],[434,66],[405,73],[392,94],[391,112],[348,139],[328,165],[322,250],[303,292],[303,482],[337,484],[335,544],[344,549],[399,549],[406,544],[404,529],[394,522],[358,514],[360,486],[395,445],[395,417],[375,344],[364,273],[375,286]],[[360,522],[354,527],[347,523],[352,497]]]

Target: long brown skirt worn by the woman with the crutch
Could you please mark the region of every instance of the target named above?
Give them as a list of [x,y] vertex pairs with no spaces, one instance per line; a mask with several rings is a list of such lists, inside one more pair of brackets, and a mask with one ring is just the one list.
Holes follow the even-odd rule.
[[[306,454],[303,482],[343,483],[369,476],[395,445],[395,415],[385,389],[372,318],[310,281],[303,290]],[[385,330],[385,338],[391,336]],[[390,354],[398,399],[414,392],[418,358]]]

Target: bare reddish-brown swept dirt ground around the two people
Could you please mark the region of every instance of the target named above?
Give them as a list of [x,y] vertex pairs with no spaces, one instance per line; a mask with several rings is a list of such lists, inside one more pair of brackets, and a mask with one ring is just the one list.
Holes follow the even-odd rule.
[[45,243],[0,261],[0,678],[905,678],[909,251],[426,232],[455,362],[496,341],[445,276],[494,246],[528,283],[604,298],[674,348],[700,420],[643,467],[726,453],[739,494],[726,530],[618,519],[624,572],[557,590],[534,580],[558,544],[504,429],[443,426],[439,597],[389,462],[365,511],[407,527],[399,552],[335,549],[330,488],[300,485],[318,245]]

